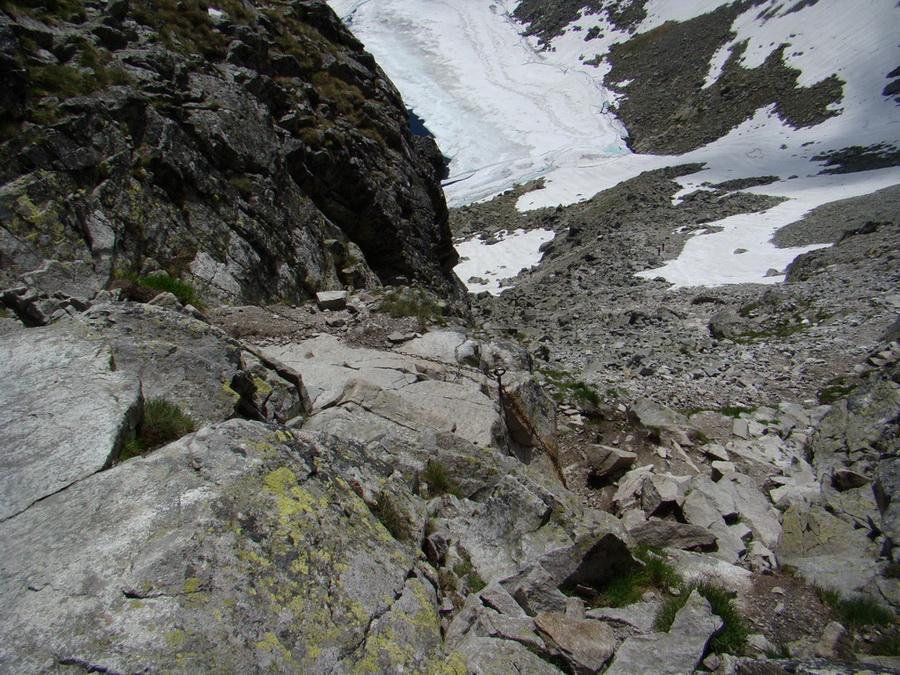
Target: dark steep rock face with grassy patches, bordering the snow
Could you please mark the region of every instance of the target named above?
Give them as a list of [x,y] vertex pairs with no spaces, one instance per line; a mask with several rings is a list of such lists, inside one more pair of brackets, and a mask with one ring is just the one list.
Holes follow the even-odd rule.
[[462,297],[437,167],[327,5],[70,4],[0,14],[0,281],[87,260],[231,302]]

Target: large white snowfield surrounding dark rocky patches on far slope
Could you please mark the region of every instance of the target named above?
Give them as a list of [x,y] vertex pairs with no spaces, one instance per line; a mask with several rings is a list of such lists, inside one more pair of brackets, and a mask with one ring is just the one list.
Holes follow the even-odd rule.
[[[888,73],[900,63],[896,39],[900,8],[894,0],[770,0],[740,14],[732,25],[734,38],[710,61],[707,86],[719,76],[733,47],[746,43],[741,62],[752,68],[786,44],[786,65],[800,71],[801,85],[831,75],[845,83],[843,99],[835,108],[839,114],[822,124],[794,129],[771,106],[761,108],[725,137],[680,156],[635,155],[627,149],[625,130],[614,116],[617,95],[604,86],[609,67],[602,57],[631,35],[609,24],[605,15],[582,16],[552,40],[551,49],[541,50],[535,39],[520,34],[523,26],[512,18],[515,0],[331,0],[330,4],[351,22],[451,157],[451,176],[445,185],[451,205],[490,198],[539,177],[546,187],[523,195],[520,209],[570,204],[642,171],[685,162],[706,165],[704,171],[680,179],[685,191],[737,178],[780,176],[781,181],[754,191],[784,195],[789,201],[765,214],[747,216],[747,222],[760,223],[753,236],[765,239],[738,247],[754,246],[749,249],[753,255],[744,254],[744,260],[758,258],[757,264],[735,274],[744,266],[735,266],[730,259],[732,247],[704,254],[719,260],[718,269],[690,258],[690,264],[680,268],[672,263],[648,273],[680,285],[777,281],[780,277],[764,277],[765,273],[770,268],[782,270],[782,259],[789,261],[799,251],[775,255],[774,247],[765,246],[767,238],[801,216],[803,208],[828,201],[830,186],[847,183],[819,176],[822,161],[816,158],[850,146],[900,144],[900,108],[882,94],[890,83]],[[648,0],[647,17],[637,32],[724,4],[728,0]],[[600,37],[586,41],[588,32]],[[588,65],[598,57],[598,67]],[[869,171],[851,182],[853,194],[865,194],[900,183],[900,169]],[[843,188],[834,195],[834,199],[848,196]],[[747,231],[747,225],[740,229]],[[689,242],[685,255],[701,248]]]

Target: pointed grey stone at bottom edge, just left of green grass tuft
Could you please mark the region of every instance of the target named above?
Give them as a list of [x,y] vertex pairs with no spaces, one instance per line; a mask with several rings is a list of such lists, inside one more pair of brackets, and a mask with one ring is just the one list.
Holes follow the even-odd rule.
[[722,620],[712,613],[709,602],[692,591],[668,633],[628,638],[605,675],[690,675],[721,626]]

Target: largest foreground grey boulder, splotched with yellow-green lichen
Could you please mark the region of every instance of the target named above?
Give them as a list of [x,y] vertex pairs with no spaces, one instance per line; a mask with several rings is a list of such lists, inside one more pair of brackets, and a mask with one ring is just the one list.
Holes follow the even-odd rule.
[[434,593],[348,465],[391,472],[358,445],[231,420],[6,520],[0,670],[436,668]]

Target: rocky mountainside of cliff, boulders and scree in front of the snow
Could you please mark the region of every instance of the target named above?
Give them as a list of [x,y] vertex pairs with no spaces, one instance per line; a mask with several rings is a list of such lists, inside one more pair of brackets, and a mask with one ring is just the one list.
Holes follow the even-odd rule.
[[673,290],[765,178],[448,216],[321,3],[0,16],[0,672],[900,672],[896,188]]

